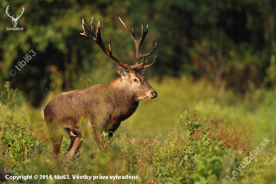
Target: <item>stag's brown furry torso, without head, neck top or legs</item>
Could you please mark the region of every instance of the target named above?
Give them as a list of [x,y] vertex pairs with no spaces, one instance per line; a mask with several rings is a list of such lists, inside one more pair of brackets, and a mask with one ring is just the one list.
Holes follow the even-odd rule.
[[[138,105],[139,101],[132,94],[116,88],[112,83],[93,85],[57,96],[45,108],[45,114],[48,115],[45,119],[49,118],[51,121],[55,118],[61,125],[63,122],[70,122],[63,126],[73,130],[79,119],[84,118],[103,129],[127,119]],[[54,116],[55,114],[58,116]]]

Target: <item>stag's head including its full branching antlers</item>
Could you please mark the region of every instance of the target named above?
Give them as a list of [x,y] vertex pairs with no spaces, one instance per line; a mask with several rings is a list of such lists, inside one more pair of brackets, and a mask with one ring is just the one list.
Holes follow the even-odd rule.
[[[136,101],[140,101],[145,98],[154,99],[157,97],[157,93],[152,88],[152,86],[147,82],[146,78],[144,77],[144,73],[146,72],[147,68],[153,66],[155,63],[156,55],[155,55],[154,61],[148,65],[145,65],[148,62],[148,60],[145,61],[145,58],[154,53],[154,51],[157,48],[157,42],[151,52],[149,52],[147,54],[141,54],[140,48],[141,48],[141,44],[143,43],[143,41],[146,38],[146,35],[148,33],[148,30],[149,30],[148,25],[147,25],[147,30],[145,31],[144,27],[143,27],[143,23],[141,22],[142,35],[139,39],[136,39],[135,34],[134,34],[135,32],[134,32],[133,24],[131,23],[131,26],[132,26],[132,33],[131,33],[129,31],[129,29],[125,26],[125,24],[122,22],[121,19],[120,19],[120,21],[123,24],[123,26],[126,28],[131,39],[133,40],[133,42],[135,43],[136,58],[135,58],[134,65],[125,64],[112,55],[110,40],[109,40],[108,50],[106,49],[106,47],[104,46],[102,39],[101,39],[100,19],[99,19],[96,31],[95,31],[94,24],[93,24],[93,17],[91,20],[91,31],[88,31],[88,29],[85,26],[84,20],[82,19],[82,28],[83,28],[84,33],[81,33],[81,35],[84,35],[84,36],[94,40],[100,46],[100,48],[103,50],[103,52],[108,57],[110,57],[113,61],[116,62],[117,73],[121,76],[119,78],[120,86],[123,86],[125,88],[125,90],[128,90],[128,91],[130,91],[130,93],[134,94]],[[143,58],[143,62],[139,63],[139,61],[142,58]]]

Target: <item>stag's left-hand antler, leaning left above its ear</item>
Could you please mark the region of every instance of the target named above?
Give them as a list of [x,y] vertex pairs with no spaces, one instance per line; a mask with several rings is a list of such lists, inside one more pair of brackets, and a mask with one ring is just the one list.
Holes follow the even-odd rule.
[[109,40],[109,44],[108,44],[108,48],[109,48],[109,52],[108,50],[105,48],[102,39],[101,39],[101,33],[100,33],[100,19],[97,25],[97,31],[95,32],[95,27],[94,27],[94,18],[92,17],[91,19],[91,31],[89,31],[84,23],[84,20],[82,19],[82,29],[83,29],[83,33],[80,33],[83,36],[86,36],[92,40],[94,40],[101,48],[101,50],[108,56],[110,57],[113,61],[115,61],[116,63],[120,64],[122,67],[126,67],[128,68],[128,65],[121,62],[119,59],[117,59],[116,57],[114,57],[112,55],[112,51],[111,51],[111,42]]

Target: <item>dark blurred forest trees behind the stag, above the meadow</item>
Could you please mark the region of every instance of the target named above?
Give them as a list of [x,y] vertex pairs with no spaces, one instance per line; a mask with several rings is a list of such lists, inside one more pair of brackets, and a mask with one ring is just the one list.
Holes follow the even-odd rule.
[[[13,27],[5,13],[8,5],[14,17],[25,8],[17,25],[24,31],[7,30]],[[111,39],[113,55],[130,64],[134,44],[118,17],[129,28],[133,22],[136,37],[141,34],[141,21],[149,25],[142,53],[152,50],[156,41],[158,49],[157,62],[147,71],[147,78],[186,74],[219,88],[232,88],[240,95],[271,87],[276,81],[275,1],[4,0],[0,7],[0,83],[10,80],[34,106],[40,105],[49,89],[81,87],[76,81],[84,75],[92,84],[108,83],[117,76],[115,63],[79,34],[82,18],[90,28],[91,17],[95,24],[101,18],[103,42],[107,45]],[[9,70],[31,49],[36,56],[11,77]],[[61,77],[60,86],[51,85],[57,79],[54,75]]]

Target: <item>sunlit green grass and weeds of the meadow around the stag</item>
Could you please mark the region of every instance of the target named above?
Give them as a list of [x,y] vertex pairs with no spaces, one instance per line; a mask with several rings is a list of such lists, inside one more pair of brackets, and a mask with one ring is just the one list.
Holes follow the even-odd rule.
[[[63,139],[61,153],[53,160],[41,109],[30,107],[21,91],[11,91],[0,169],[10,168],[13,175],[69,175],[73,183],[273,183],[276,166],[269,163],[275,152],[273,90],[252,89],[242,99],[231,90],[219,90],[187,76],[151,79],[149,83],[158,98],[141,101],[134,115],[121,123],[106,152],[96,145],[92,130],[85,131],[83,154],[69,169],[63,162],[69,140]],[[44,104],[55,95],[56,91],[50,91]],[[1,123],[5,113],[1,107]],[[243,158],[266,137],[271,142],[237,171]],[[232,177],[233,170],[238,175],[230,181],[226,175]],[[140,179],[72,179],[77,174],[128,174]]]

